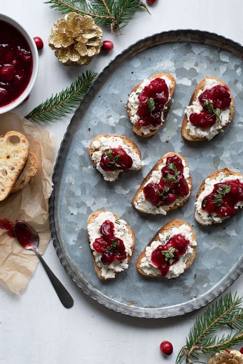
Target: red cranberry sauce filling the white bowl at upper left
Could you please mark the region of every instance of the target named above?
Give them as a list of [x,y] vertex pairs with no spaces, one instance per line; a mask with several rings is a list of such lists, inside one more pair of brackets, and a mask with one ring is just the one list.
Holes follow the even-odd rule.
[[0,20],[0,107],[25,91],[32,69],[32,53],[27,40],[15,27]]

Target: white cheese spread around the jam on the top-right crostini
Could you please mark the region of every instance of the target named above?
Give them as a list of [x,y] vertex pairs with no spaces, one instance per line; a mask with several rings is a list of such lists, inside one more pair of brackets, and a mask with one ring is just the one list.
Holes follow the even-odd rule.
[[194,138],[207,138],[208,140],[211,140],[216,134],[218,134],[223,126],[226,126],[229,122],[230,122],[230,108],[225,109],[225,110],[221,110],[221,114],[220,114],[220,122],[218,120],[216,120],[216,122],[210,126],[210,127],[200,127],[200,126],[196,126],[193,125],[189,118],[190,115],[192,113],[201,113],[203,111],[203,108],[198,100],[198,97],[205,91],[208,89],[212,89],[214,86],[216,86],[217,84],[220,84],[220,82],[216,81],[215,79],[212,78],[207,78],[205,81],[205,87],[203,90],[200,90],[197,94],[197,98],[196,100],[192,103],[192,105],[187,106],[186,109],[186,115],[187,115],[187,126],[186,126],[186,130],[188,131],[188,133],[194,137]]

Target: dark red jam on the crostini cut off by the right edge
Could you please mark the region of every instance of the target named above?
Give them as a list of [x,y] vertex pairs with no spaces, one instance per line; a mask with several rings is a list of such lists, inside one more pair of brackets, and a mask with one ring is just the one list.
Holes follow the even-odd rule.
[[243,202],[243,183],[237,179],[214,184],[211,194],[202,200],[201,209],[222,217],[233,216],[238,202]]

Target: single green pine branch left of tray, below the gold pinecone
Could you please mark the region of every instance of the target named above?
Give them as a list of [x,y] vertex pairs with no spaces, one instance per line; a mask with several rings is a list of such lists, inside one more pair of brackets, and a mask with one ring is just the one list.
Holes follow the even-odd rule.
[[72,82],[70,87],[54,96],[52,95],[36,106],[25,118],[34,121],[52,121],[72,113],[73,109],[83,100],[96,77],[96,72],[86,71],[85,74],[83,73],[76,81]]

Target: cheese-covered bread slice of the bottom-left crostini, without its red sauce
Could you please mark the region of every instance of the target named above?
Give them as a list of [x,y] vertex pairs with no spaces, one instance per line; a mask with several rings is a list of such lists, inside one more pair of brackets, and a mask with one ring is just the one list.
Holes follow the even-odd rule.
[[[111,264],[103,264],[100,261],[100,259],[102,259],[102,253],[98,253],[93,248],[95,239],[102,236],[99,232],[99,228],[106,220],[109,220],[114,224],[114,236],[122,239],[124,242],[127,259],[123,261],[114,260]],[[110,211],[96,211],[88,218],[87,236],[94,262],[94,268],[100,280],[113,279],[117,274],[128,268],[128,263],[130,262],[134,252],[135,234],[126,221],[119,219],[115,213]],[[106,249],[107,247],[104,248],[104,250]]]

